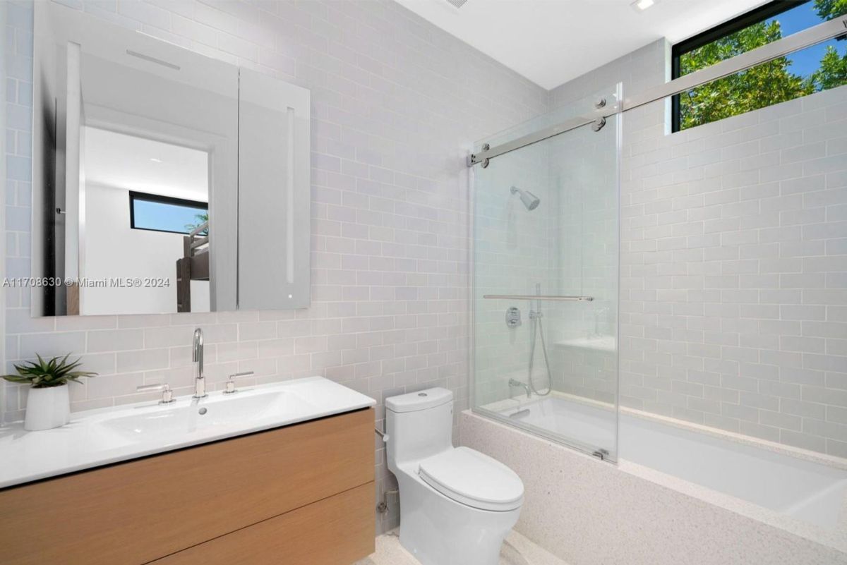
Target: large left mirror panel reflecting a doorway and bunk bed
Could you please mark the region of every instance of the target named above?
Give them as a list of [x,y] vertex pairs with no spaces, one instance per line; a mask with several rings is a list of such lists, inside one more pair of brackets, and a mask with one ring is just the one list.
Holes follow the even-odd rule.
[[35,42],[33,315],[235,310],[238,69],[52,3]]

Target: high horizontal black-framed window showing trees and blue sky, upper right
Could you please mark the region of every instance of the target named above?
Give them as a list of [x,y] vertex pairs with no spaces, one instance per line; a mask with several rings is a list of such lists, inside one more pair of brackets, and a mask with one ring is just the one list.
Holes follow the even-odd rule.
[[[847,14],[847,0],[786,0],[673,46],[673,78]],[[673,131],[847,84],[847,41],[825,41],[673,97]]]

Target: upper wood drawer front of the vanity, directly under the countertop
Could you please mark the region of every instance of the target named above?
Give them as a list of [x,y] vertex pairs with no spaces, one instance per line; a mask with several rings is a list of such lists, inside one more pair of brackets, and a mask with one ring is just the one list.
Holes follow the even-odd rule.
[[10,487],[0,564],[141,565],[372,484],[373,430],[363,409]]

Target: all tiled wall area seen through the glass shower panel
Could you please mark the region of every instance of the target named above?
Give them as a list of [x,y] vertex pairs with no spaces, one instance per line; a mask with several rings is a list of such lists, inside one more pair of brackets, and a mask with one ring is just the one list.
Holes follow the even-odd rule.
[[[615,88],[609,86],[498,134],[491,143],[585,115],[595,109],[598,99],[614,95]],[[596,344],[597,337],[613,339],[617,335],[617,173],[614,117],[599,132],[580,128],[500,156],[489,167],[474,169],[474,295],[532,295],[537,290],[593,299],[538,304],[478,298],[473,317],[474,402],[478,406],[522,395],[522,387],[509,386],[511,379],[535,392],[544,393],[551,387],[614,401],[614,347],[581,355],[579,350],[584,348],[569,343],[590,337]],[[512,187],[531,192],[540,198],[540,204],[527,210],[518,195],[510,194]],[[507,326],[508,308],[518,308],[520,326]],[[539,321],[544,329],[543,344],[535,329]],[[545,359],[550,360],[550,374]]]

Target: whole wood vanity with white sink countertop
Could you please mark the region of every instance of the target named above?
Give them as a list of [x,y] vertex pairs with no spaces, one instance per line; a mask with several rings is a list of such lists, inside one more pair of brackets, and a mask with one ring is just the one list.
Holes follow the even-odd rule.
[[0,563],[337,565],[374,551],[371,398],[313,377],[174,404],[0,429]]

